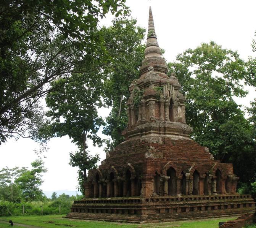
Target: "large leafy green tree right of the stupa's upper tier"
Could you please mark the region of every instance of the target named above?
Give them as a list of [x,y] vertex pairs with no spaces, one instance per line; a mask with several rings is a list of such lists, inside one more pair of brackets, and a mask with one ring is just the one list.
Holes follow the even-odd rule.
[[[202,43],[169,63],[186,96],[186,119],[193,127],[192,138],[210,149],[222,162],[234,165],[243,182],[255,178],[256,156],[253,128],[233,97],[245,97],[242,80],[245,62],[235,51],[214,42]],[[246,159],[250,157],[250,160]]]

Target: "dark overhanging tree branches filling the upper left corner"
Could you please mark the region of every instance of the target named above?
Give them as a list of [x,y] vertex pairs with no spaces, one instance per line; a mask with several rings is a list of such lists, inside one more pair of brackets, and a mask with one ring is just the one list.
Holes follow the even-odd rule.
[[0,6],[0,143],[17,135],[44,141],[40,98],[102,45],[99,18],[127,14],[125,0],[4,0]]

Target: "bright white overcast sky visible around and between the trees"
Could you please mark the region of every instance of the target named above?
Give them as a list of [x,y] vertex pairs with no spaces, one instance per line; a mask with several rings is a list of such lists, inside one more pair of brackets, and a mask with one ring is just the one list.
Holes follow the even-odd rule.
[[[223,48],[238,51],[244,60],[248,56],[256,57],[251,50],[251,42],[256,30],[255,0],[127,0],[131,15],[137,19],[137,25],[148,27],[148,10],[152,8],[158,43],[165,50],[167,62],[175,60],[177,54],[188,48],[213,40]],[[100,25],[111,25],[114,17],[108,14]],[[246,87],[246,98],[235,98],[237,103],[249,106],[256,97],[255,90]],[[101,108],[100,116],[107,117],[110,109]],[[106,138],[102,133],[98,134]],[[0,146],[0,169],[5,166],[25,166],[37,159],[34,149],[38,144],[31,139],[9,139]],[[55,191],[72,195],[77,186],[77,168],[69,163],[69,152],[76,151],[68,136],[51,139],[48,152],[43,158],[48,172],[42,177],[42,190],[49,195]],[[100,154],[100,161],[106,155],[103,147],[93,147],[89,142],[91,154]],[[100,164],[100,162],[99,162]]]

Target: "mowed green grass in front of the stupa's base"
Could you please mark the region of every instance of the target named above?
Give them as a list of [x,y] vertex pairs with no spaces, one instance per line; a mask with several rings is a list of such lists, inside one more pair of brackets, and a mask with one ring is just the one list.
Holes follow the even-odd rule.
[[[146,223],[146,224],[127,224],[127,223],[113,223],[100,221],[85,221],[85,220],[70,220],[62,218],[64,215],[43,215],[43,216],[12,216],[0,217],[0,227],[10,227],[10,225],[1,222],[1,220],[9,221],[11,219],[15,223],[38,226],[43,228],[61,228],[61,227],[75,227],[75,228],[217,228],[219,222],[234,220],[237,217],[227,218],[212,218],[196,221],[182,221],[182,222],[164,222],[164,223]],[[16,226],[17,227],[17,226]]]

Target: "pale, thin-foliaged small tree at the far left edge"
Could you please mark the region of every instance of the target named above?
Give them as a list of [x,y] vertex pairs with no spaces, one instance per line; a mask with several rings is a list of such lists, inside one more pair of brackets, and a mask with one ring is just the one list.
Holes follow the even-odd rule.
[[3,168],[0,170],[0,199],[17,202],[20,201],[19,186],[15,183],[15,180],[24,172],[27,168],[15,167],[15,168]]

